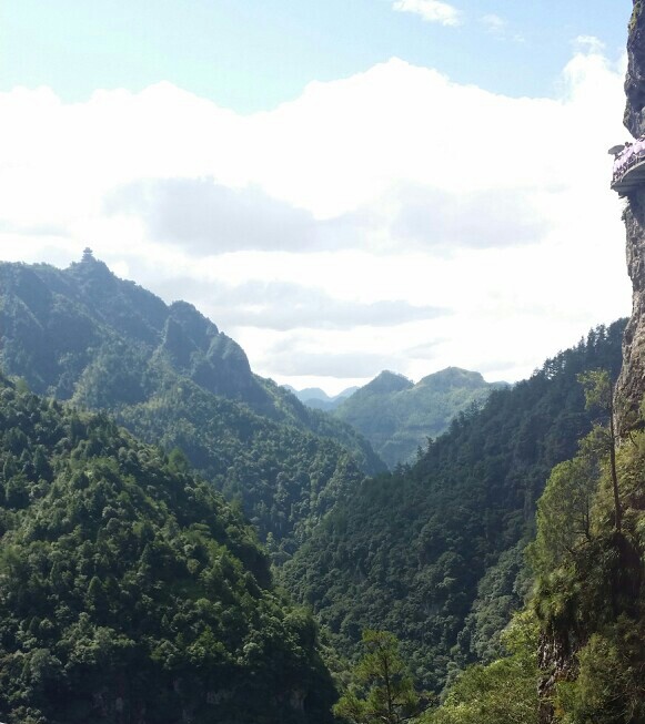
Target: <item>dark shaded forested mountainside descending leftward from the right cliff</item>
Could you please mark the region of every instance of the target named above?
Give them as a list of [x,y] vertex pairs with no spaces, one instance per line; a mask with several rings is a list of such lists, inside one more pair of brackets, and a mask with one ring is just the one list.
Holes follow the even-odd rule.
[[512,389],[462,414],[413,466],[366,480],[283,569],[351,654],[361,631],[396,633],[440,690],[453,667],[500,653],[522,603],[522,549],[551,469],[591,428],[577,375],[615,378],[624,323],[599,327]]

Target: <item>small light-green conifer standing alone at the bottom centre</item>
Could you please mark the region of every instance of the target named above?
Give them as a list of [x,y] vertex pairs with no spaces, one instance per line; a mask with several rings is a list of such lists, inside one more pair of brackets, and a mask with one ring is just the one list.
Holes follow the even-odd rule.
[[399,654],[399,640],[386,631],[363,631],[367,650],[353,671],[354,686],[334,706],[334,714],[353,724],[401,724],[425,708],[424,698]]

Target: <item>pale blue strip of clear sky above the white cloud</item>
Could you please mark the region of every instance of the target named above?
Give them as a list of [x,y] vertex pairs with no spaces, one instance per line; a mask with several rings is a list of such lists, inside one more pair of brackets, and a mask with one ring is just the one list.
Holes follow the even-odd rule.
[[624,49],[628,0],[455,0],[458,24],[390,0],[3,0],[0,89],[65,101],[165,80],[238,112],[392,57],[494,93],[553,95],[572,41]]

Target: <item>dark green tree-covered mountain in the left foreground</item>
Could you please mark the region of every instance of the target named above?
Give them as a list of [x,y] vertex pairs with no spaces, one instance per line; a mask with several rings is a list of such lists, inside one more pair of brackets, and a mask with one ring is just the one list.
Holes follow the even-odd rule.
[[329,721],[312,619],[185,458],[0,377],[0,718]]

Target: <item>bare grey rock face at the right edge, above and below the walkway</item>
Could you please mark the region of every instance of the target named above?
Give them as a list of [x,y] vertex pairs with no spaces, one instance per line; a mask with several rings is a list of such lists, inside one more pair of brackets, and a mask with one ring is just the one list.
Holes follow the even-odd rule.
[[[625,126],[634,137],[645,134],[645,3],[634,0],[627,40]],[[636,421],[645,394],[645,188],[629,194],[624,212],[627,269],[632,279],[632,317],[623,343],[623,370],[616,388],[621,432]]]

